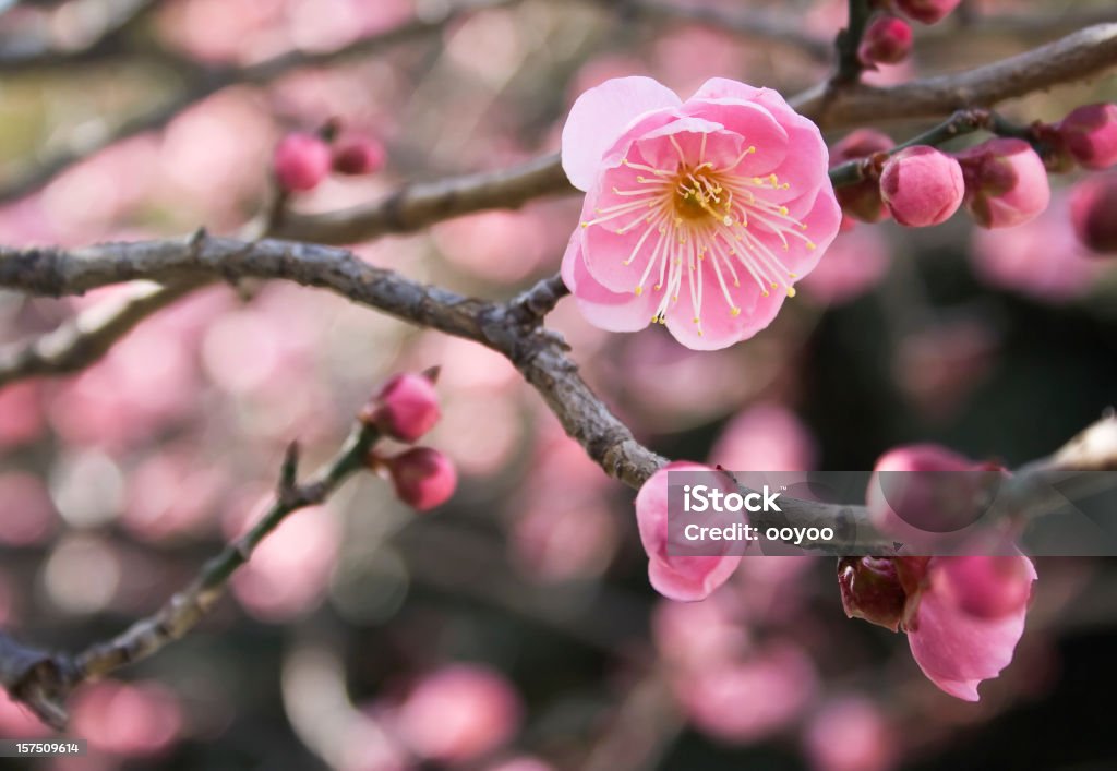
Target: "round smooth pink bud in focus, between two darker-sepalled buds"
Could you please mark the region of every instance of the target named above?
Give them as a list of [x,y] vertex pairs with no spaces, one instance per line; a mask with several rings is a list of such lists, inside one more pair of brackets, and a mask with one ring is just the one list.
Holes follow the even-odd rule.
[[941,225],[962,204],[962,166],[934,147],[906,147],[888,159],[880,172],[880,194],[900,225]]

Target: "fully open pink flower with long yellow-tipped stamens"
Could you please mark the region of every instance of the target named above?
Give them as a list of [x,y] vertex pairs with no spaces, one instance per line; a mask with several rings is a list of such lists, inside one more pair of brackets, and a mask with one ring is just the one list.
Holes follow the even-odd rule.
[[751,337],[841,219],[818,126],[735,80],[686,102],[650,78],[608,80],[574,103],[562,160],[586,192],[563,278],[612,332],[659,322],[700,350]]

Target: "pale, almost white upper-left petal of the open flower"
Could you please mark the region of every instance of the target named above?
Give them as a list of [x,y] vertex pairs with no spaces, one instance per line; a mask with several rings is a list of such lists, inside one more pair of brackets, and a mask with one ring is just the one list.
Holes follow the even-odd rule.
[[589,190],[601,160],[645,113],[680,104],[678,95],[649,77],[605,80],[577,97],[562,131],[562,168],[579,190]]

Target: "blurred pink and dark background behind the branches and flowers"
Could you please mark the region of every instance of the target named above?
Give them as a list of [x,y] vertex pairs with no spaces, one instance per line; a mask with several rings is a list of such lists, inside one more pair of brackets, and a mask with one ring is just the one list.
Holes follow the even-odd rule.
[[[523,0],[367,56],[226,85],[271,57],[342,49],[445,8],[0,6],[6,245],[232,231],[266,204],[277,139],[332,117],[383,141],[388,166],[331,179],[298,198],[302,210],[551,152],[573,98],[608,77],[648,74],[685,94],[728,76],[791,94],[825,76],[819,49],[844,20],[844,2],[831,0]],[[794,35],[696,22],[699,6]],[[911,63],[869,78],[966,68],[1111,12],[1105,1],[970,0],[918,30]],[[1005,112],[1057,120],[1115,97],[1108,76]],[[151,130],[86,156],[128,122]],[[901,139],[920,127],[886,128]],[[26,184],[69,154],[83,158]],[[1014,231],[975,234],[962,216],[932,230],[858,226],[770,330],[726,351],[691,352],[658,329],[604,334],[569,301],[548,324],[602,398],[669,457],[868,469],[890,447],[930,440],[1016,465],[1117,397],[1117,283],[1073,241],[1075,180],[1052,178],[1050,212]],[[356,250],[409,277],[507,297],[557,269],[577,207],[543,200]],[[0,294],[0,342],[131,291]],[[507,362],[290,285],[197,292],[78,374],[0,387],[0,626],[61,649],[115,634],[259,512],[287,442],[303,444],[311,467],[376,382],[432,364],[445,418],[424,444],[458,464],[455,499],[417,516],[369,475],[292,517],[200,629],[77,694],[73,735],[89,740],[88,758],[37,768],[1117,763],[1110,562],[1040,561],[1015,660],[980,704],[926,682],[903,637],[847,620],[827,560],[746,560],[707,607],[667,607],[648,587],[631,492],[562,435]],[[733,672],[672,677],[678,656],[726,639]],[[449,695],[423,701],[423,684],[447,682]],[[460,745],[438,760],[441,740],[417,723],[441,726],[442,740],[457,731]],[[0,696],[0,736],[41,735]],[[423,752],[435,760],[413,759]]]

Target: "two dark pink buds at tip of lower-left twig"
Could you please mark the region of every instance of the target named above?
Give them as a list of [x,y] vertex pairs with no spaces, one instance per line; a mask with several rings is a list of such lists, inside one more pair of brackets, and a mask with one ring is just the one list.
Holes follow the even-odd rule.
[[[437,379],[438,368],[395,375],[365,404],[360,420],[397,441],[419,440],[441,417],[435,391]],[[412,447],[394,456],[373,448],[366,464],[373,470],[386,472],[397,497],[420,512],[446,503],[458,485],[454,463],[430,447]]]

